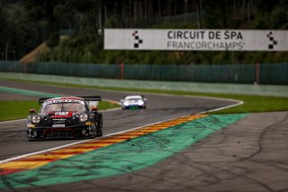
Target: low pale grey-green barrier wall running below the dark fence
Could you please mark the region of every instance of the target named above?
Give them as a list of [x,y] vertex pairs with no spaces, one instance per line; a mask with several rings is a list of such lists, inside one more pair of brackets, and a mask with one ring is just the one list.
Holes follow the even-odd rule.
[[175,90],[202,93],[224,93],[257,96],[284,96],[288,97],[288,86],[264,86],[243,84],[217,84],[172,81],[148,80],[119,80],[103,78],[76,78],[52,75],[36,75],[25,73],[0,72],[0,78],[24,79],[42,82],[66,83],[95,87],[123,87],[139,89]]

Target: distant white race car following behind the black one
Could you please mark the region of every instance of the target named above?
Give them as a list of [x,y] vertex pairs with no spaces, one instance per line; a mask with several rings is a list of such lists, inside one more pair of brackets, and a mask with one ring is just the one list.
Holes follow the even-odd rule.
[[144,96],[124,96],[121,105],[122,109],[146,109],[146,101]]

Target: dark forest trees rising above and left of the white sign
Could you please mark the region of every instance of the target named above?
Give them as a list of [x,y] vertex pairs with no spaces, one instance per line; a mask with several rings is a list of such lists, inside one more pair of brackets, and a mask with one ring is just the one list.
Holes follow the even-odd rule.
[[70,47],[94,41],[101,50],[105,27],[287,29],[287,13],[286,0],[2,0],[0,59],[19,59],[42,41],[54,49],[60,29],[76,38]]

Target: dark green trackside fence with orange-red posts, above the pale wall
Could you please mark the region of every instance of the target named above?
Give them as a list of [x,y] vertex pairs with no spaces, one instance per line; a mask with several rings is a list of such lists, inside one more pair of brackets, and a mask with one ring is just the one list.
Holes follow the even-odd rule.
[[85,78],[288,85],[288,63],[259,65],[108,65],[1,61],[0,72]]

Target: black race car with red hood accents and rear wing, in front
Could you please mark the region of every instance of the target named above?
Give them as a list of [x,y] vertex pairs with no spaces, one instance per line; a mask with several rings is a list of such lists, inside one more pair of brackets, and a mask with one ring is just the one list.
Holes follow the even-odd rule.
[[27,140],[102,136],[100,100],[101,96],[40,98],[39,113],[31,109],[27,119]]

